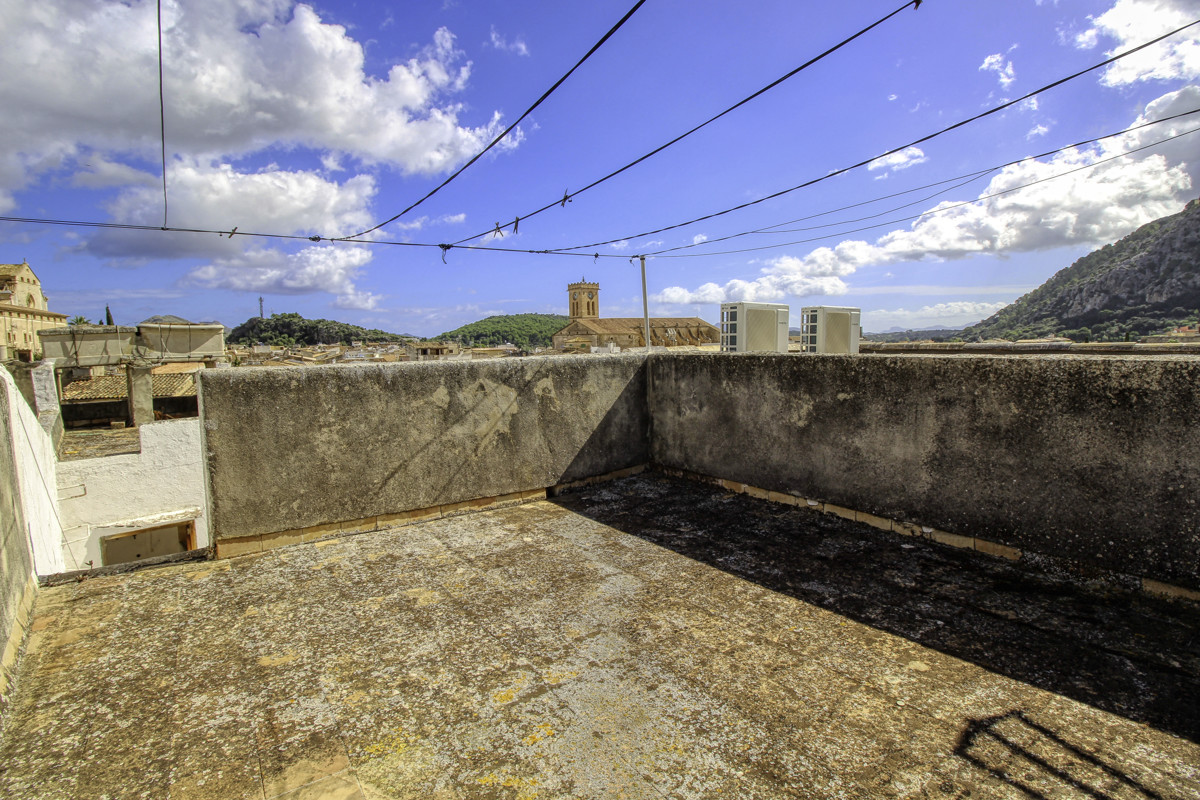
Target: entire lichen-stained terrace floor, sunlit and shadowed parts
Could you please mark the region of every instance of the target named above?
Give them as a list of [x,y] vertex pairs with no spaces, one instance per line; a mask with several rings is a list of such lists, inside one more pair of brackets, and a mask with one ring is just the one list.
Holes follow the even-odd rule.
[[1194,607],[655,476],[35,614],[5,798],[1200,795]]

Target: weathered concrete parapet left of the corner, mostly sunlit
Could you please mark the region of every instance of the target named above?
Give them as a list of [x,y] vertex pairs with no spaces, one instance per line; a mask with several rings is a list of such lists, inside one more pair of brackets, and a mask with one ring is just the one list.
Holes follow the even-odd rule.
[[215,540],[498,497],[644,464],[644,356],[200,378]]

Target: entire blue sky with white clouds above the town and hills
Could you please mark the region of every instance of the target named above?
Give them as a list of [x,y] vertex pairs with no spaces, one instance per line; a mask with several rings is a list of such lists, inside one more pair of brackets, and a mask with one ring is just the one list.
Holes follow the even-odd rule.
[[[482,149],[632,2],[163,0],[168,224],[370,228]],[[601,284],[601,314],[640,315],[631,257],[698,243],[647,259],[652,313],[715,320],[722,300],[763,300],[858,306],[868,330],[958,326],[1200,193],[1200,134],[1114,157],[1200,114],[913,191],[1200,108],[1198,26],[869,168],[636,236],[872,158],[1200,19],[1200,0],[925,0],[518,233],[475,240],[614,240],[588,248],[599,259],[454,248],[443,263],[437,248],[372,241],[510,225],[901,2],[648,0],[505,143],[359,242],[0,222],[0,261],[26,259],[52,309],[91,319],[107,303],[122,324],[233,326],[263,296],[269,313],[432,336],[565,313],[565,284],[584,276]],[[161,225],[155,19],[142,0],[0,0],[0,215]],[[784,233],[707,241],[770,225]]]

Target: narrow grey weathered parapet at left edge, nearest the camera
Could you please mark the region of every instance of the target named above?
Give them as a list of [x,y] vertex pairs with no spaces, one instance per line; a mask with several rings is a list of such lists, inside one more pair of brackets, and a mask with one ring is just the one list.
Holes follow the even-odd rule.
[[14,401],[24,403],[19,397],[12,378],[0,369],[0,710],[8,697],[37,585],[14,452],[12,410]]

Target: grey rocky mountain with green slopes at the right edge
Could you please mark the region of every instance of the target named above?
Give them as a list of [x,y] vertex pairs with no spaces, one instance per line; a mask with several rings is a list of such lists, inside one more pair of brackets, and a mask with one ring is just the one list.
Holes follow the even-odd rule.
[[1200,200],[1088,253],[964,339],[1136,339],[1200,315]]

